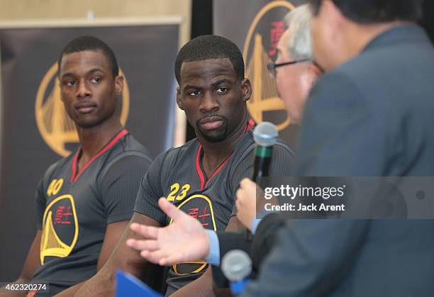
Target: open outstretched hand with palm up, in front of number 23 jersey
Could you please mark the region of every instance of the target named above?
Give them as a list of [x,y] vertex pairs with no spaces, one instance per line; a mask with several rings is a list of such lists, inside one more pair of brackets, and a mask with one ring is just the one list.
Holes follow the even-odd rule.
[[180,262],[207,260],[209,240],[201,223],[187,213],[177,209],[164,197],[158,205],[172,224],[157,228],[132,223],[130,229],[145,237],[144,240],[130,238],[126,244],[148,261],[160,265],[172,265]]

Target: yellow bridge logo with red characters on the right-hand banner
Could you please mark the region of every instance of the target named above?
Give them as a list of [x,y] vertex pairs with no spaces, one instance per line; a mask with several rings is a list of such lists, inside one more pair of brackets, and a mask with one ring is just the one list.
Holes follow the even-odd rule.
[[[247,101],[248,111],[257,123],[265,121],[264,113],[282,113],[282,122],[275,123],[278,130],[284,130],[289,125],[289,119],[284,103],[279,98],[277,84],[268,74],[267,65],[272,62],[272,57],[277,55],[277,42],[284,33],[284,21],[282,19],[271,24],[261,21],[266,19],[265,16],[270,11],[282,11],[284,16],[292,9],[294,5],[288,1],[271,1],[262,7],[250,25],[243,47],[243,57],[247,63],[246,77],[252,82],[252,97]],[[260,31],[267,30],[269,38],[265,40]],[[265,45],[269,47],[268,50],[265,49]]]

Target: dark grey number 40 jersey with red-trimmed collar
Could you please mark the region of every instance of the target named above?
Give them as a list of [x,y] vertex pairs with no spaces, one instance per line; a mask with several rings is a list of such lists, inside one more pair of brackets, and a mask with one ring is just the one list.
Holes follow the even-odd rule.
[[77,172],[81,150],[45,172],[36,191],[40,264],[32,282],[50,284],[48,296],[96,273],[106,226],[130,220],[148,150],[121,130]]

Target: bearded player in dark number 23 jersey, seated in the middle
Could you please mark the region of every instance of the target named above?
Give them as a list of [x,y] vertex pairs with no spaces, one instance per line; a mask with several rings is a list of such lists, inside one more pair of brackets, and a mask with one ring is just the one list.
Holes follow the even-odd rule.
[[[140,183],[131,223],[164,226],[172,220],[157,205],[167,201],[199,220],[210,230],[238,230],[235,191],[243,177],[252,175],[252,126],[246,101],[252,88],[244,77],[238,47],[214,35],[191,40],[175,63],[179,83],[177,104],[185,111],[197,138],[161,154]],[[274,148],[272,174],[287,175],[294,154],[283,142]],[[79,296],[113,293],[116,269],[138,276],[149,273],[148,262],[127,247],[129,229],[106,265],[79,291]],[[176,239],[174,239],[176,240]],[[194,242],[190,242],[191,247]],[[210,296],[212,279],[206,262],[174,264],[167,277],[167,295]],[[205,272],[206,271],[206,272]]]

